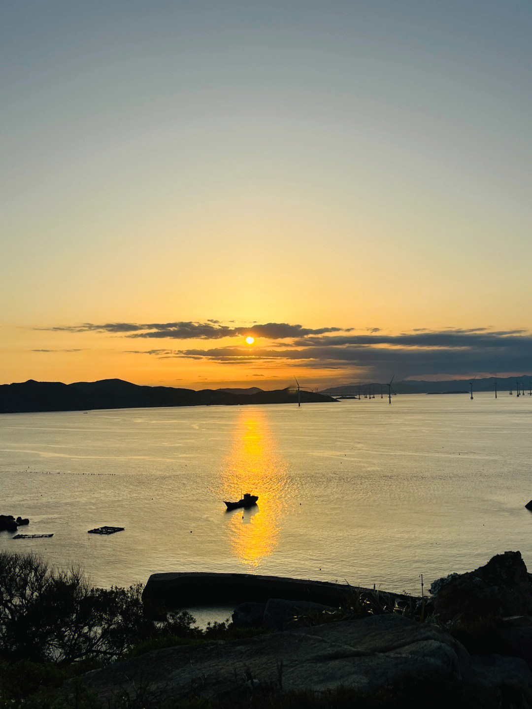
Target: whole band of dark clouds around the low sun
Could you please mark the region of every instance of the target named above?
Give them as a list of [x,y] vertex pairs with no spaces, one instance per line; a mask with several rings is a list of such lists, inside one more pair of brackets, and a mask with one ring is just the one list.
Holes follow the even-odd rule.
[[[256,365],[281,368],[290,362],[308,369],[350,372],[368,379],[385,379],[394,372],[402,379],[422,376],[470,376],[475,372],[532,370],[532,335],[526,330],[490,328],[417,328],[397,335],[380,328],[305,328],[290,323],[224,324],[180,320],[173,323],[106,323],[52,328],[72,333],[99,332],[147,340],[206,340],[257,338],[254,347],[154,347],[125,350],[164,359]],[[261,346],[261,342],[264,346]],[[155,344],[155,343],[154,343]],[[161,343],[162,344],[162,343]]]

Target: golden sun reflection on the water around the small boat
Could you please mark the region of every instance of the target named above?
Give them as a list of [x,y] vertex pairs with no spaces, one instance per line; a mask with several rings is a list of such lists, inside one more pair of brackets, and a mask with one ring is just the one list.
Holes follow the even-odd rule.
[[222,491],[224,500],[239,500],[247,492],[259,496],[250,510],[226,513],[230,545],[247,566],[259,566],[278,545],[281,518],[292,497],[287,471],[264,411],[242,409],[231,452],[222,463]]

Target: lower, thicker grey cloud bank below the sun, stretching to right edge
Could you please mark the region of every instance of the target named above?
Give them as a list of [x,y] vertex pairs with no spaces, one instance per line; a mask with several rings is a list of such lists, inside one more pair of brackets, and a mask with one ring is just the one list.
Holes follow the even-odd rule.
[[470,376],[474,372],[528,372],[532,369],[532,335],[523,330],[489,333],[486,328],[384,335],[317,335],[300,337],[284,347],[210,347],[149,350],[164,358],[203,359],[220,364],[271,367],[297,362],[309,369],[344,369],[370,379],[397,373],[413,376]]

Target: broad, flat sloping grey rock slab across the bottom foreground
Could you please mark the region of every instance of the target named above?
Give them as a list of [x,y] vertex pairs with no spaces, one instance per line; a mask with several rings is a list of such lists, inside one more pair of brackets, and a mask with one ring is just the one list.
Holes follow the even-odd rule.
[[249,640],[149,652],[85,676],[103,705],[142,686],[153,700],[194,694],[215,699],[239,687],[324,691],[339,686],[374,692],[405,678],[479,691],[502,683],[528,691],[532,676],[518,658],[472,657],[436,627],[401,615],[377,615],[298,628]]

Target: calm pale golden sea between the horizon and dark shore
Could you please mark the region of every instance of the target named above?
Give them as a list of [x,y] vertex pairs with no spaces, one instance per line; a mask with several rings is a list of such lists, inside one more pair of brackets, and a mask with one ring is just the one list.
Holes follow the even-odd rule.
[[[251,571],[420,593],[519,549],[532,569],[532,396],[0,415],[0,513],[94,584]],[[225,499],[259,495],[253,510]],[[125,527],[108,537],[101,525]]]

